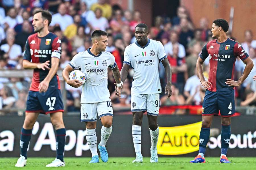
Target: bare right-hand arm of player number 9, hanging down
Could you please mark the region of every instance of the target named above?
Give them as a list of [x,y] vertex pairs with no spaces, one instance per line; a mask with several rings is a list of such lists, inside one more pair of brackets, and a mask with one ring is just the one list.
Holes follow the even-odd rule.
[[165,58],[161,62],[164,65],[165,75],[167,78],[167,84],[165,86],[165,93],[168,92],[167,98],[169,98],[172,95],[172,69],[171,69],[170,63],[167,58]]

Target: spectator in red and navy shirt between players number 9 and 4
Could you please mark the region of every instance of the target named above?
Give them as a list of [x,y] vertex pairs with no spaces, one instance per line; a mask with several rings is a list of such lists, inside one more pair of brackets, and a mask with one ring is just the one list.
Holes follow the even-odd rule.
[[183,88],[185,84],[185,72],[187,71],[187,65],[185,58],[179,58],[179,46],[175,44],[173,46],[173,55],[168,56],[170,65],[172,66],[172,83],[177,84],[179,92],[183,93]]

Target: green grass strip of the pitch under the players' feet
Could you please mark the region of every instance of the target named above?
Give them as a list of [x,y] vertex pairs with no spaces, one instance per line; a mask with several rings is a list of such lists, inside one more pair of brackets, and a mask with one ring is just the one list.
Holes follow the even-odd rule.
[[[18,158],[0,158],[0,169],[33,169],[40,170],[46,169],[45,165],[50,163],[54,158],[28,158],[27,165],[24,168],[15,167],[15,163]],[[150,170],[150,169],[254,169],[256,164],[256,157],[229,157],[229,160],[232,163],[219,163],[220,158],[218,157],[207,157],[206,163],[188,163],[192,160],[192,157],[159,157],[158,163],[150,163],[148,157],[143,158],[143,163],[131,163],[134,158],[128,157],[119,157],[119,158],[110,158],[108,163],[103,163],[100,160],[100,163],[90,164],[88,163],[91,158],[65,158],[66,166],[59,167],[58,169],[83,169],[83,170],[93,170],[93,169],[102,169],[102,170]],[[47,168],[53,169],[53,168]]]

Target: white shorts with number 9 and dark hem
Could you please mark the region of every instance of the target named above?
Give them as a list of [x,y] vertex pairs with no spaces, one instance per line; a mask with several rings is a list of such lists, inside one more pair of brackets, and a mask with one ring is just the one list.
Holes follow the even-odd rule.
[[148,115],[158,116],[159,94],[131,94],[131,112],[147,111]]

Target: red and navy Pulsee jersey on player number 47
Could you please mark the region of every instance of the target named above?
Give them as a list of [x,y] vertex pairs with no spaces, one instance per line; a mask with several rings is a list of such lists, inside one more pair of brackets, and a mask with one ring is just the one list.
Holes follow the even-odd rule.
[[[37,33],[35,33],[28,37],[23,59],[31,61],[32,63],[44,63],[49,60],[49,67],[51,67],[52,57],[61,57],[61,40],[57,35],[50,32],[45,37],[38,37]],[[39,83],[46,78],[48,73],[48,69],[34,69],[32,83],[29,90],[39,91]],[[59,76],[57,73],[49,82],[49,88],[60,89]]]

